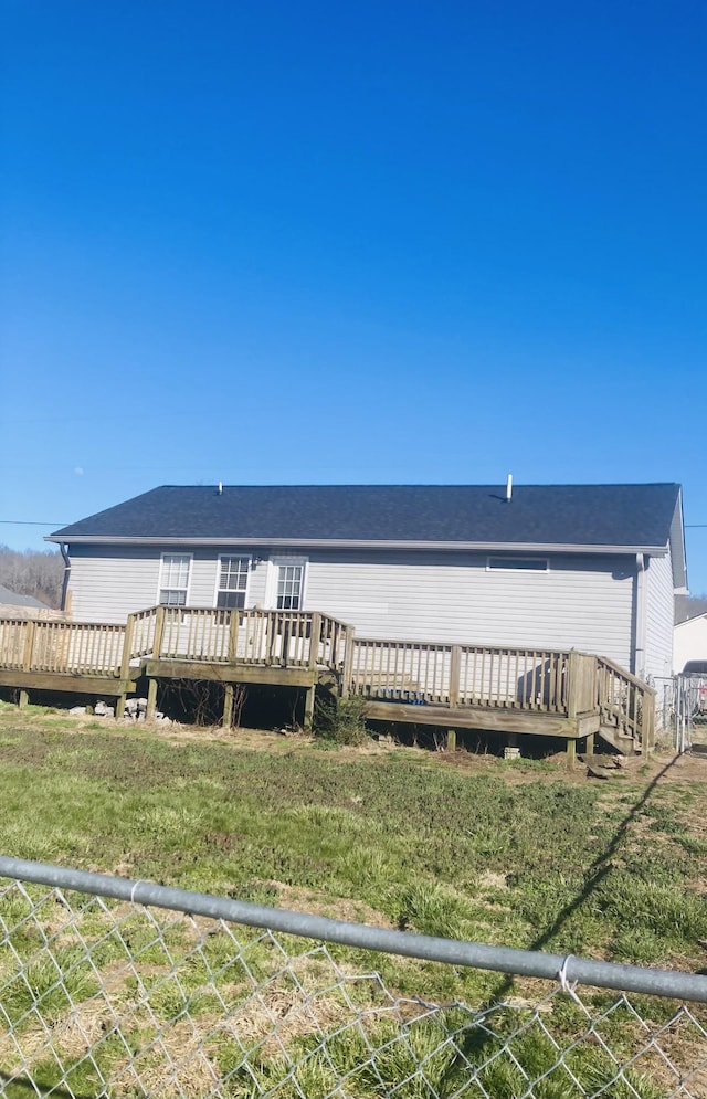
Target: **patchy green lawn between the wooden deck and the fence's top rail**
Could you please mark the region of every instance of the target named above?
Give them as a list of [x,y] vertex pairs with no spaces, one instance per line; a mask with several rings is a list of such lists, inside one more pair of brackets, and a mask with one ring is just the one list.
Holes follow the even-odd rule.
[[[604,782],[549,762],[374,744],[337,751],[304,738],[156,730],[0,704],[0,804],[8,855],[426,934],[705,964],[700,760],[636,761]],[[330,953],[377,970],[401,996],[474,1006],[528,987]],[[360,1095],[379,1093],[361,1085]]]

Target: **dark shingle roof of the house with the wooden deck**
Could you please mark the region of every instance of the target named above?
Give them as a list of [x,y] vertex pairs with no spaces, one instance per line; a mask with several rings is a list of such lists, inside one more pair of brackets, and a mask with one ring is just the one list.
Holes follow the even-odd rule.
[[55,531],[75,539],[244,539],[665,547],[679,486],[163,485]]

